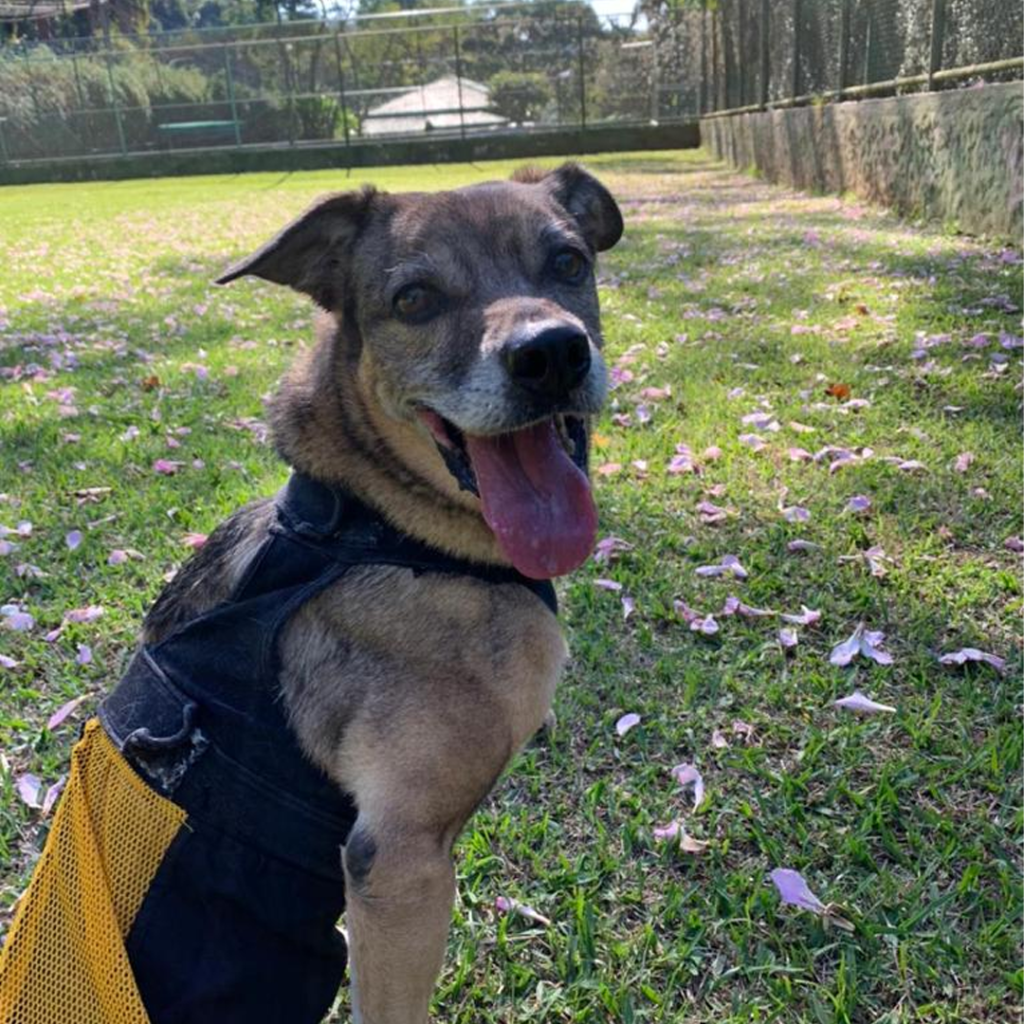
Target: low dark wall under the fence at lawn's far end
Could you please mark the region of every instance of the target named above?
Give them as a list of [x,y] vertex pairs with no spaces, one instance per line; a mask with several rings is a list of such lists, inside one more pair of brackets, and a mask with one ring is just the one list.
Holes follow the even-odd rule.
[[471,163],[530,157],[583,156],[630,150],[693,150],[700,144],[695,122],[673,125],[599,126],[581,131],[480,132],[466,138],[364,141],[351,146],[241,146],[81,158],[26,164],[0,163],[0,185],[35,181],[89,181],[170,177],[179,174],[240,174],[247,171],[309,171],[388,167],[397,164]]

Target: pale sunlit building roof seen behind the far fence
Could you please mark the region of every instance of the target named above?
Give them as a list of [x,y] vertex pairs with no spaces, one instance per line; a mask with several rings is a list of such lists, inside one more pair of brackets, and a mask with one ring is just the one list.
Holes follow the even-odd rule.
[[362,134],[409,135],[463,125],[478,128],[508,124],[508,118],[490,113],[489,105],[490,91],[485,85],[445,75],[371,108],[362,121]]

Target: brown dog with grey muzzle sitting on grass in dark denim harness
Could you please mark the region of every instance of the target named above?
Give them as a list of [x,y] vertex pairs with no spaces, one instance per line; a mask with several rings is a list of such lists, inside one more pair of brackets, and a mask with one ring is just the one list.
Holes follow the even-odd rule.
[[[596,537],[595,260],[622,231],[574,164],[437,194],[366,187],[218,280],[319,307],[316,344],[269,406],[293,475],[164,590],[76,748],[0,962],[0,1021],[119,1020],[103,999],[131,989],[146,1016],[130,1019],[153,1024],[314,1024],[345,967],[344,907],[354,1021],[425,1024],[453,844],[545,720],[567,654],[550,581]],[[100,804],[122,818],[76,817]],[[143,814],[160,818],[144,858],[104,852]],[[89,893],[103,880],[100,909],[61,909],[51,890],[72,870]],[[120,933],[122,981],[98,1009],[80,996],[72,1016],[33,1018],[25,965],[57,930],[47,912],[81,932],[78,956],[99,955],[90,914],[103,941]],[[68,968],[61,985],[104,971]]]

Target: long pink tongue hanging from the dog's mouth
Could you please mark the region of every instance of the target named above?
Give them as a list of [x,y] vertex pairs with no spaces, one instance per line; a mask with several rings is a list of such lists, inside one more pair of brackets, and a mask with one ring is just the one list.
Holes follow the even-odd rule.
[[590,483],[551,420],[497,437],[466,435],[483,518],[509,561],[532,580],[571,572],[594,550]]

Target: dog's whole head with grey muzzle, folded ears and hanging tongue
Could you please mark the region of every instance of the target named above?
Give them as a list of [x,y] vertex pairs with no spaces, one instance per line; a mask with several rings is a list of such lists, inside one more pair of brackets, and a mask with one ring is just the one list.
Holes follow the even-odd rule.
[[596,254],[614,200],[566,164],[454,191],[344,193],[219,283],[289,285],[358,338],[385,415],[429,432],[520,571],[570,571],[593,547],[587,422],[606,391]]

